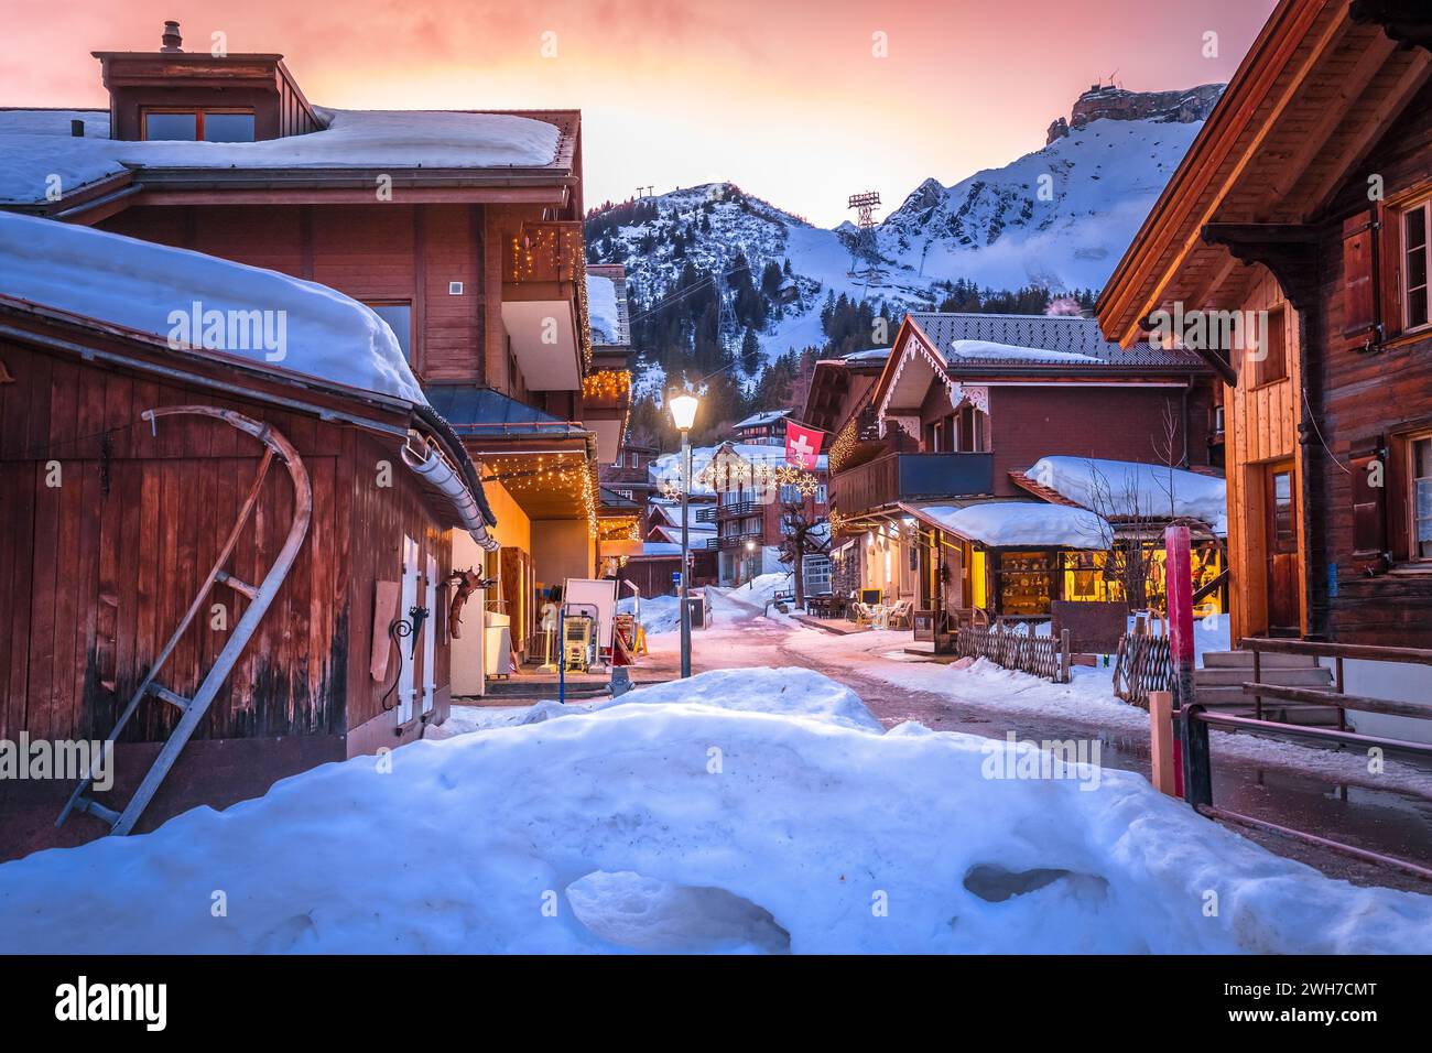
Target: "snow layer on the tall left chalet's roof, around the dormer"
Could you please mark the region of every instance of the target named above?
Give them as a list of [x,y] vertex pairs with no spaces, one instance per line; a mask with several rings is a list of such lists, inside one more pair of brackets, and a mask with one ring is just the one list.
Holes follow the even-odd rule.
[[[507,113],[329,110],[328,128],[253,143],[122,142],[90,135],[89,113],[0,112],[0,202],[46,199],[125,168],[537,168],[557,150],[557,128]],[[69,117],[86,122],[72,138]]]

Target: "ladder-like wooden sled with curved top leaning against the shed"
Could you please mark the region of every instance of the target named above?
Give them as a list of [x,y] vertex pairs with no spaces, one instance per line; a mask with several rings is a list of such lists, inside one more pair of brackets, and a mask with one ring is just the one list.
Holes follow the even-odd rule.
[[[115,811],[113,808],[100,804],[93,797],[89,797],[87,794],[95,781],[95,774],[90,772],[86,775],[79,785],[74,787],[74,792],[70,794],[69,802],[64,805],[60,817],[54,821],[56,827],[62,825],[64,819],[69,818],[70,812],[77,809],[106,822],[112,834],[127,834],[135,828],[135,824],[139,821],[139,817],[143,814],[146,805],[159,789],[159,784],[163,782],[165,775],[169,774],[169,769],[179,758],[179,752],[189,742],[189,738],[199,726],[203,715],[209,711],[209,705],[219,693],[219,688],[223,686],[223,682],[228,679],[229,672],[233,669],[235,662],[238,662],[239,655],[248,645],[249,638],[258,628],[258,623],[263,619],[265,612],[274,602],[275,593],[278,593],[279,586],[288,576],[289,567],[294,564],[294,559],[298,556],[304,537],[308,534],[308,521],[314,509],[314,494],[308,481],[308,471],[304,468],[304,461],[298,456],[298,451],[282,433],[268,424],[262,424],[251,417],[245,417],[241,413],[235,413],[233,410],[221,410],[212,405],[166,405],[156,410],[145,410],[140,417],[147,420],[150,427],[153,427],[155,421],[160,417],[175,417],[180,414],[213,417],[216,420],[222,420],[231,427],[238,428],[239,431],[243,431],[245,434],[253,436],[253,438],[263,444],[263,460],[259,463],[258,471],[253,476],[253,483],[249,486],[243,506],[239,509],[239,519],[229,532],[229,537],[223,543],[223,549],[219,552],[219,559],[215,560],[213,569],[199,587],[199,595],[195,596],[193,603],[189,605],[189,610],[180,619],[179,628],[175,629],[173,636],[169,638],[169,642],[155,658],[153,665],[149,668],[149,673],[135,691],[133,698],[129,699],[129,705],[125,706],[125,712],[120,713],[119,721],[115,723],[115,729],[109,734],[107,745],[113,749],[115,741],[119,739],[120,732],[125,731],[125,725],[129,723],[129,718],[135,715],[146,698],[155,698],[166,705],[170,705],[179,711],[179,721],[173,731],[169,732],[169,738],[160,748],[159,756],[156,756],[155,762],[149,766],[143,781],[139,784],[139,788],[129,799],[129,804],[125,805],[123,811]],[[235,577],[232,573],[225,570],[223,566],[233,554],[239,536],[242,534],[245,524],[249,521],[253,507],[258,504],[259,491],[263,489],[263,480],[268,476],[269,466],[274,463],[275,457],[282,460],[288,467],[289,479],[294,483],[294,524],[289,527],[284,547],[279,549],[278,556],[274,559],[274,566],[269,567],[263,580],[255,586]],[[199,613],[199,609],[203,606],[205,599],[208,599],[215,585],[228,586],[233,592],[248,597],[249,606],[245,609],[238,625],[235,625],[233,632],[225,642],[223,649],[219,652],[219,656],[215,659],[213,666],[203,678],[203,682],[199,685],[193,698],[185,698],[183,695],[179,695],[178,692],[162,685],[159,682],[159,673],[163,669],[165,662],[168,662],[173,655],[175,648],[179,645],[179,639],[193,622],[195,615]]]

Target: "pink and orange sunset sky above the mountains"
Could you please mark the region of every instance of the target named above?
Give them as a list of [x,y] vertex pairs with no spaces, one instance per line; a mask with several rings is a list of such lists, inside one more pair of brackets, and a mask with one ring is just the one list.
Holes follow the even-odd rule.
[[[0,0],[0,105],[106,103],[92,50],[279,52],[337,107],[583,110],[587,203],[729,179],[833,225],[1044,145],[1114,74],[1227,80],[1274,0]],[[1217,57],[1204,34],[1217,33]],[[888,57],[878,57],[884,34]],[[556,36],[551,36],[556,34]],[[544,50],[547,52],[544,54]],[[556,50],[556,54],[551,52]]]

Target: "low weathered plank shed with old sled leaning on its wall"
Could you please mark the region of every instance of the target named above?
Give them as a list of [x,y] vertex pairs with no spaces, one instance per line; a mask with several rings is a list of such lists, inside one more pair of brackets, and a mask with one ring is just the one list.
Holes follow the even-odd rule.
[[0,297],[0,738],[105,739],[137,698],[113,788],[59,828],[73,784],[0,782],[0,858],[421,738],[451,698],[451,539],[495,546],[491,519],[425,405]]

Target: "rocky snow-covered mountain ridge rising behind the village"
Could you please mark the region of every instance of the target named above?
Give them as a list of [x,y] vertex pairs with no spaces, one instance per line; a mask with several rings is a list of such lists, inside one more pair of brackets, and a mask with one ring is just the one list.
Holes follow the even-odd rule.
[[789,261],[760,334],[766,355],[823,344],[821,304],[831,291],[932,309],[957,279],[1098,289],[1221,90],[1085,92],[1068,120],[1050,125],[1042,149],[951,186],[927,179],[915,188],[875,229],[884,274],[874,281],[851,275],[852,223],[816,228],[730,183],[616,206],[589,223],[589,245],[599,259],[626,264],[646,302],[670,294],[686,265],[726,272],[745,254],[759,281],[768,261]]

